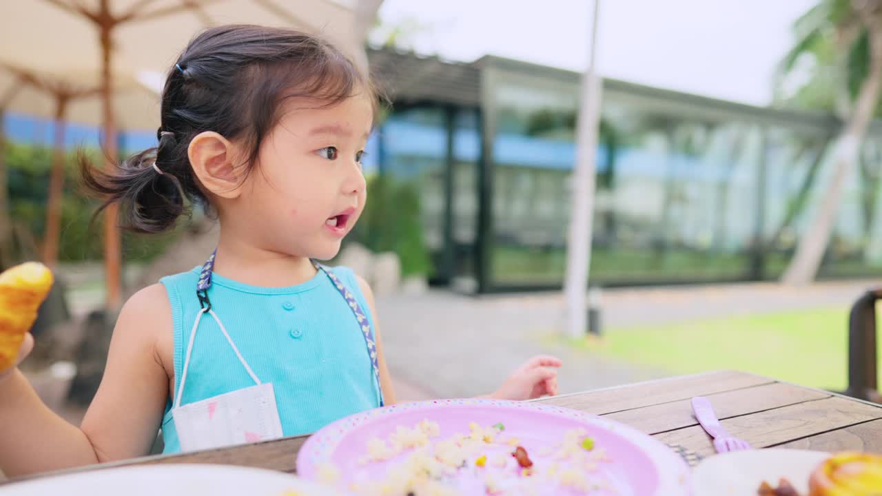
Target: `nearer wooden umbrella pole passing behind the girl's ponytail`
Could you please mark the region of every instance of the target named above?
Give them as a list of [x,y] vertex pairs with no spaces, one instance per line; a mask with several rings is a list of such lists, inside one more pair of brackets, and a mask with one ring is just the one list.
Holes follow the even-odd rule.
[[[101,4],[106,4],[106,0]],[[113,111],[113,81],[111,67],[112,24],[101,23],[101,100],[104,108],[104,155],[105,167],[112,170],[116,167],[118,150],[116,149],[116,122]],[[110,311],[116,311],[122,304],[120,273],[122,266],[122,246],[119,229],[116,226],[118,207],[111,204],[104,214],[104,277],[107,293],[105,304]]]

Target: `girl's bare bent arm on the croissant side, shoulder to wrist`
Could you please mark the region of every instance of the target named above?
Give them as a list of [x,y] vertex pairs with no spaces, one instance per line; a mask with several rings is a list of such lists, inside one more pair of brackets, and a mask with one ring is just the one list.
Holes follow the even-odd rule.
[[9,477],[146,455],[168,397],[157,337],[171,336],[171,308],[159,284],[123,306],[101,386],[81,427],[41,402],[18,369],[0,377],[0,470]]

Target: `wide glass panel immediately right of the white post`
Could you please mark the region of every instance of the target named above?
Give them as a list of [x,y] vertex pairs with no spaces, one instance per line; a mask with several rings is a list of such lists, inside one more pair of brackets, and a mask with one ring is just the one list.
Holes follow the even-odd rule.
[[604,101],[594,281],[747,277],[760,138],[749,124]]

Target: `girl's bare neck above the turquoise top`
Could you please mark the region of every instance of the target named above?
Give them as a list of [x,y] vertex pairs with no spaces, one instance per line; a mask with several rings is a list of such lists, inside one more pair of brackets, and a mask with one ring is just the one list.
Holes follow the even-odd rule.
[[316,267],[306,257],[264,250],[233,236],[218,240],[214,272],[236,282],[265,288],[283,288],[307,282]]

